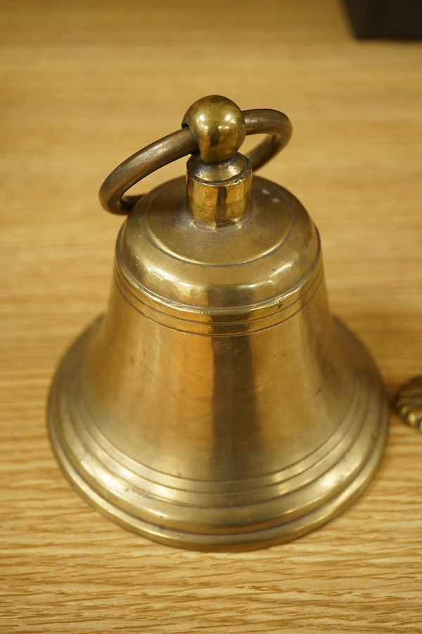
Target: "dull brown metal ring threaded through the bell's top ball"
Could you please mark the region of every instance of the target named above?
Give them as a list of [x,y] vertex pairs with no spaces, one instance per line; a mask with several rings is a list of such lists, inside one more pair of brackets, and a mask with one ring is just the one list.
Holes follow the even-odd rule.
[[[287,144],[292,125],[289,118],[277,110],[244,110],[243,116],[246,135],[267,135],[247,155],[252,169],[257,170]],[[111,213],[130,213],[141,196],[124,196],[128,189],[167,163],[197,152],[198,142],[188,127],[144,147],[123,161],[103,182],[99,192],[101,205]]]

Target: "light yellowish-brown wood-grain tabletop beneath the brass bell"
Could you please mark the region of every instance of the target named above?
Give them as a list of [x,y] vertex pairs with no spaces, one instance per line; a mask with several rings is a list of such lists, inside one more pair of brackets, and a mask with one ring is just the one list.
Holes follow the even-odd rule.
[[422,373],[422,44],[358,42],[335,0],[4,0],[0,20],[1,632],[422,632],[422,435],[396,416],[354,506],[248,554],[115,526],[45,423],[60,355],[106,306],[122,219],[99,185],[212,93],[290,116],[262,175],[319,227],[331,309],[390,400]]

